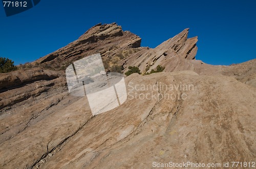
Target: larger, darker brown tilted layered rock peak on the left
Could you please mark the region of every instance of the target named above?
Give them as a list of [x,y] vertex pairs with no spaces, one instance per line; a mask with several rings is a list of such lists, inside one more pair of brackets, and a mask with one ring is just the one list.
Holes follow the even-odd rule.
[[122,31],[116,23],[97,24],[84,33],[78,40],[57,51],[38,59],[37,63],[50,62],[55,59],[76,61],[92,54],[100,53],[102,57],[111,57],[116,53],[140,47],[141,38],[129,32]]

